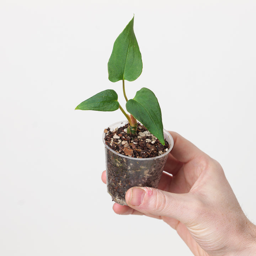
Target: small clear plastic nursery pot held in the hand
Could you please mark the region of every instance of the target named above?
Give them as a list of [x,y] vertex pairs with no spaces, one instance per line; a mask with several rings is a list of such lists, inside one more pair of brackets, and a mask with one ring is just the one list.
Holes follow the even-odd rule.
[[[109,128],[113,131],[125,123],[127,121],[117,122],[109,126]],[[165,129],[164,138],[169,143],[170,148],[162,155],[153,158],[133,158],[112,150],[106,145],[105,133],[103,133],[106,155],[107,192],[112,196],[112,201],[121,205],[127,205],[125,194],[129,188],[136,186],[158,187],[168,154],[174,145],[171,134]]]

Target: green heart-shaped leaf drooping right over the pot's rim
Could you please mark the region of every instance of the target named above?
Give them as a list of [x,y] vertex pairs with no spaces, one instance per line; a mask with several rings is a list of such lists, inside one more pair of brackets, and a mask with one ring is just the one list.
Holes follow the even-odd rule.
[[140,89],[133,99],[126,102],[126,109],[155,135],[162,145],[165,144],[161,109],[153,91]]

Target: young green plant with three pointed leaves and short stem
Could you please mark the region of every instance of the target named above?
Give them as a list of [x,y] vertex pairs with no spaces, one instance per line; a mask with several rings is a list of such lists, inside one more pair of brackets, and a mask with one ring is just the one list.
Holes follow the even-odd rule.
[[162,114],[155,94],[143,87],[136,92],[134,98],[128,100],[126,96],[124,80],[134,81],[142,73],[142,57],[134,34],[133,23],[134,16],[114,42],[108,61],[108,79],[111,82],[122,80],[128,113],[119,104],[118,95],[112,89],[99,92],[81,102],[75,109],[115,111],[119,108],[129,122],[128,133],[136,135],[138,120],[164,145]]

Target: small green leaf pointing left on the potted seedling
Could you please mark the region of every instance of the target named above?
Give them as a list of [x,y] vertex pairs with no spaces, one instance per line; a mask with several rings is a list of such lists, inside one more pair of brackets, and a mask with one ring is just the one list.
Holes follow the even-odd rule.
[[95,94],[80,103],[76,110],[115,111],[119,108],[117,93],[114,90],[105,90]]

